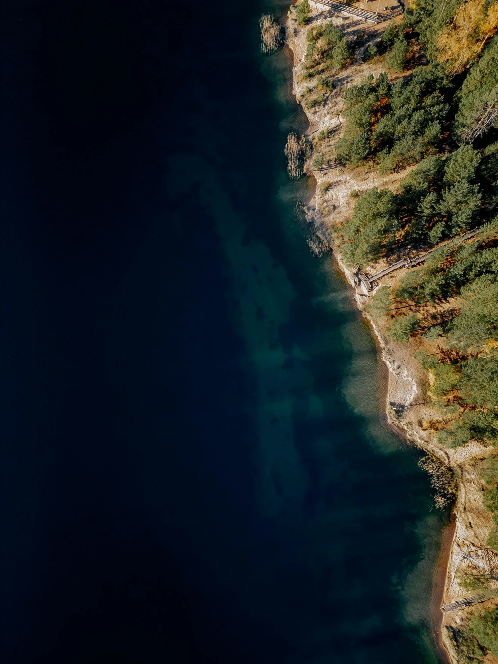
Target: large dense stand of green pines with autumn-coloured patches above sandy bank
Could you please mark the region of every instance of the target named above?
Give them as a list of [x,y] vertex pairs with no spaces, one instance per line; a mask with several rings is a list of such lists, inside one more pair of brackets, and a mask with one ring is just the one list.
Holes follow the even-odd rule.
[[[394,293],[378,288],[369,311],[390,318],[394,341],[426,339],[432,352],[418,357],[448,415],[438,436],[450,447],[498,442],[497,25],[496,1],[412,1],[397,31],[416,31],[429,63],[394,84],[385,72],[351,86],[336,149],[351,168],[412,165],[396,191],[357,198],[341,228],[349,266],[442,243]],[[473,228],[471,240],[444,244]]]

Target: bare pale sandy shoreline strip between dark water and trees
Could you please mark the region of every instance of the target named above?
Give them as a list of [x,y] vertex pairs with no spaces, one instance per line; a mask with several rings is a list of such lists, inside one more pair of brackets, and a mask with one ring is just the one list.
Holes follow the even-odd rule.
[[[317,5],[313,2],[310,2],[310,6],[313,8],[311,22],[318,21],[319,23],[323,23],[323,21],[333,18],[337,19],[337,25],[343,25],[346,29],[349,29],[349,34],[351,34],[351,30],[358,31],[359,29],[362,29],[362,26],[357,25],[358,22],[355,23],[355,21],[351,21],[350,19],[344,19],[343,17],[339,18],[337,15],[324,13],[323,9],[317,8]],[[318,129],[327,127],[331,122],[331,118],[334,117],[339,120],[339,134],[342,133],[341,128],[343,126],[343,118],[341,118],[340,114],[340,96],[337,98],[336,95],[335,99],[330,101],[330,104],[329,102],[325,102],[324,108],[319,111],[307,110],[307,108],[299,102],[299,92],[302,92],[302,90],[299,90],[299,87],[302,88],[303,84],[297,79],[297,70],[301,62],[300,56],[305,52],[305,42],[303,40],[303,35],[301,35],[303,29],[300,30],[295,27],[295,23],[290,23],[289,19],[286,22],[286,25],[288,25],[288,37],[285,46],[286,48],[290,48],[293,53],[292,92],[295,101],[301,106],[303,114],[305,114],[309,122],[309,128],[305,132],[305,135],[309,139],[314,133],[316,133],[316,131],[318,131]],[[306,28],[304,27],[304,29]],[[369,70],[369,67],[362,64],[361,60],[355,60],[347,72],[347,85],[358,83],[359,80],[361,80],[361,77],[365,76],[367,73],[373,73],[374,76],[377,76],[382,70],[383,67],[379,68],[378,66],[376,66],[375,70]],[[408,73],[409,72],[404,72],[404,75]],[[345,87],[346,85],[342,86],[341,90]],[[332,116],[330,114],[331,110],[333,111]],[[337,120],[332,121],[337,122]],[[313,131],[311,131],[312,129]],[[492,527],[491,515],[485,511],[482,505],[480,488],[477,489],[473,482],[475,475],[473,475],[471,469],[467,466],[472,459],[475,459],[476,457],[479,458],[479,455],[487,456],[491,450],[489,450],[489,448],[487,448],[487,450],[484,448],[481,449],[481,446],[476,446],[470,442],[465,446],[465,448],[467,448],[466,450],[465,448],[448,450],[437,442],[435,431],[421,428],[420,422],[422,420],[430,420],[434,417],[434,409],[432,409],[430,404],[428,405],[425,402],[420,403],[423,399],[417,398],[424,394],[424,388],[422,386],[423,378],[420,367],[418,366],[418,363],[414,361],[411,349],[408,347],[400,348],[401,344],[393,344],[388,341],[387,337],[382,334],[384,329],[381,329],[381,326],[371,319],[371,317],[364,311],[367,298],[363,297],[363,293],[359,292],[359,289],[356,288],[355,276],[352,270],[349,270],[349,268],[343,264],[340,253],[337,253],[336,243],[327,227],[330,224],[341,222],[343,218],[351,214],[354,203],[351,201],[349,193],[353,189],[357,189],[357,191],[363,191],[370,187],[388,187],[395,189],[402,177],[404,177],[408,171],[410,171],[410,167],[400,173],[391,175],[390,177],[382,177],[377,173],[367,172],[367,177],[363,177],[365,173],[362,173],[362,177],[359,179],[359,174],[354,171],[339,168],[332,175],[333,189],[335,189],[333,193],[333,211],[331,212],[330,209],[327,209],[327,205],[325,205],[327,203],[327,198],[330,199],[330,197],[323,197],[323,193],[319,194],[318,187],[315,191],[315,195],[307,203],[307,210],[305,211],[308,221],[313,223],[317,234],[333,249],[335,270],[337,270],[338,274],[341,275],[341,278],[345,280],[347,286],[351,287],[351,291],[349,288],[347,289],[349,296],[353,298],[356,308],[363,317],[365,317],[366,321],[369,323],[369,327],[371,327],[371,332],[373,332],[378,357],[381,359],[379,367],[382,367],[382,365],[385,367],[380,370],[378,384],[379,416],[382,424],[386,426],[386,428],[392,430],[392,432],[396,433],[396,436],[399,436],[404,442],[414,444],[420,450],[426,452],[426,454],[434,459],[438,459],[440,463],[450,468],[450,470],[455,473],[454,478],[457,485],[457,495],[452,504],[450,523],[446,525],[442,531],[440,551],[433,572],[434,576],[432,582],[432,594],[430,597],[429,615],[430,629],[434,637],[434,643],[438,655],[445,664],[456,664],[457,653],[454,651],[452,644],[448,641],[449,637],[448,633],[446,633],[447,630],[445,627],[458,629],[461,619],[455,614],[444,614],[441,611],[441,607],[444,603],[465,596],[465,590],[459,586],[458,582],[454,582],[451,588],[448,587],[450,575],[453,577],[455,576],[454,572],[458,564],[459,552],[465,550],[465,548],[469,548],[470,544],[472,545],[471,548],[475,548],[476,544],[478,546],[485,546],[487,533],[489,533],[489,530]],[[317,185],[328,183],[331,177],[331,174],[329,173],[322,173],[321,171],[315,173],[312,171],[311,167],[309,167],[309,161],[307,163],[307,168],[305,168],[305,175],[307,175],[307,177],[313,177],[317,182]],[[325,208],[323,207],[324,205]],[[323,218],[322,212],[325,212],[325,218]],[[394,404],[404,404],[402,406],[401,415],[399,412],[395,412],[394,408],[390,407],[390,402],[394,402]],[[382,406],[380,405],[381,403]],[[406,408],[406,406],[412,407]],[[467,466],[465,467],[466,472],[463,471],[463,464]],[[471,497],[471,501],[469,501],[468,497]],[[477,540],[475,539],[475,536],[478,535],[478,533],[476,529],[473,529],[473,526],[470,523],[470,517],[473,523],[476,523],[479,520],[481,521],[479,537],[477,537]],[[486,604],[489,608],[493,608],[495,605],[498,606],[498,602],[493,602],[493,600],[488,600],[488,602]],[[493,606],[491,606],[491,602]],[[446,647],[446,642],[449,647]]]

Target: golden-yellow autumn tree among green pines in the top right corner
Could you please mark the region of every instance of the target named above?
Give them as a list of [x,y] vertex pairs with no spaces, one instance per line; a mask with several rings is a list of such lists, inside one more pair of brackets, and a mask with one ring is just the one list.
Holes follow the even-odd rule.
[[460,5],[454,19],[438,36],[438,60],[448,62],[448,72],[457,74],[477,60],[486,40],[498,28],[498,2],[484,11],[485,0]]

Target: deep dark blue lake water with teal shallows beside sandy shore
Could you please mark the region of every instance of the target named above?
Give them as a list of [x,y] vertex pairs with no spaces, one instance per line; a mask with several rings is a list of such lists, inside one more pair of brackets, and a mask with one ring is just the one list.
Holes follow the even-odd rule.
[[268,9],[2,3],[5,664],[436,661],[442,517],[295,214]]

